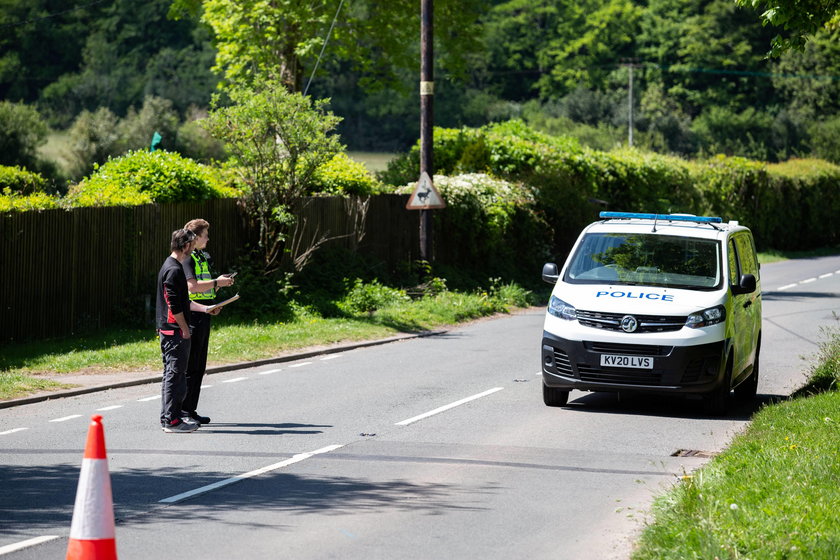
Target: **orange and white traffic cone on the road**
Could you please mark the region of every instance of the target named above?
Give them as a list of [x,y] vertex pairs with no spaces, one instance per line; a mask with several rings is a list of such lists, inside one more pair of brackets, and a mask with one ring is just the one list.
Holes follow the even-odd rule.
[[114,500],[105,454],[102,417],[91,417],[82,472],[76,490],[67,560],[116,560]]

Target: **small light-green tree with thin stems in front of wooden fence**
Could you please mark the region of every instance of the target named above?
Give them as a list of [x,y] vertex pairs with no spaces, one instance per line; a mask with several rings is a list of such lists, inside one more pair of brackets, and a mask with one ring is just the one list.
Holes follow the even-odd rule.
[[240,174],[242,201],[259,230],[264,271],[277,271],[287,252],[299,269],[325,239],[297,250],[300,239],[291,212],[309,194],[318,167],[343,148],[332,134],[339,118],[325,109],[328,100],[291,93],[279,80],[234,86],[228,95],[232,104],[227,107],[214,98],[207,126],[227,143]]

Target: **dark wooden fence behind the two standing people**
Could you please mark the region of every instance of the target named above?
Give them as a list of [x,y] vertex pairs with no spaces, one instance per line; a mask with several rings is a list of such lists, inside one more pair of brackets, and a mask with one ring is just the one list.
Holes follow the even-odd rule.
[[[417,212],[405,195],[372,197],[363,212],[338,197],[309,199],[299,210],[304,237],[371,254],[394,265],[417,258]],[[364,209],[362,209],[364,210]],[[76,208],[0,215],[0,341],[62,336],[154,313],[157,272],[172,231],[201,217],[210,222],[215,268],[227,270],[250,235],[233,199]]]

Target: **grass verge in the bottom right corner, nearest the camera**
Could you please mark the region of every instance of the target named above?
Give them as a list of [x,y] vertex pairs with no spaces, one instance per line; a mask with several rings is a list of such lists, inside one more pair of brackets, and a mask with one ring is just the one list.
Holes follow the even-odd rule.
[[633,560],[840,558],[838,379],[834,331],[798,396],[657,498]]

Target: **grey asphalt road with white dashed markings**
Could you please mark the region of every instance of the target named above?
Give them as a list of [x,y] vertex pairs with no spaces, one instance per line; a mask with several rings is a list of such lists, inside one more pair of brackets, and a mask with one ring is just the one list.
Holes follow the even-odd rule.
[[[840,257],[762,268],[759,398],[573,392],[542,404],[542,311],[208,376],[212,424],[164,434],[159,384],[0,410],[0,555],[62,558],[104,417],[123,559],[624,559],[654,496],[802,384]],[[699,456],[673,456],[679,450]]]

